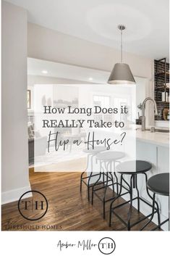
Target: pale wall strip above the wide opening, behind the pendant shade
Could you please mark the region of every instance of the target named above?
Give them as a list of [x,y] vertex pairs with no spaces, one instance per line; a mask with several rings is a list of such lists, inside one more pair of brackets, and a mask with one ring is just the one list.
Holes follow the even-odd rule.
[[[111,71],[120,51],[28,23],[28,57]],[[124,44],[124,49],[126,45]],[[153,60],[124,52],[133,75],[152,78]]]

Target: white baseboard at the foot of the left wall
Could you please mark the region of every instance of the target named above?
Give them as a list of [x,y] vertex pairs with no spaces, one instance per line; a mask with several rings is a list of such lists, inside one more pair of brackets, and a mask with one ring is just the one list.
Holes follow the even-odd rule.
[[[22,196],[22,194],[24,194],[27,191],[30,191],[30,184],[29,186],[24,186],[20,189],[12,189],[9,191],[5,191],[1,193],[1,205],[7,204],[9,202],[14,202],[20,199],[20,197]],[[23,198],[27,198],[27,197],[32,197],[32,194],[26,194],[25,197]]]

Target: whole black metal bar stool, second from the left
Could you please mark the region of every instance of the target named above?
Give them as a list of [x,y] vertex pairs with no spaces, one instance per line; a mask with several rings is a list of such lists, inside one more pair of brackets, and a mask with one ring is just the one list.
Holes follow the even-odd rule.
[[[95,183],[92,186],[92,205],[93,205],[93,197],[94,194],[98,199],[103,202],[103,218],[105,219],[106,215],[106,202],[111,201],[115,197],[114,193],[114,185],[116,185],[116,192],[118,194],[118,178],[116,176],[115,170],[115,163],[118,162],[118,160],[122,159],[125,156],[123,152],[116,152],[116,151],[108,151],[108,152],[101,152],[96,155],[96,160],[100,161],[100,175],[98,176],[98,180],[95,181]],[[112,164],[114,165],[112,168]],[[104,166],[103,166],[104,165]],[[110,167],[110,168],[109,168]],[[116,182],[114,182],[114,177],[112,175],[112,172],[114,173],[114,176],[116,178]],[[103,175],[103,181],[101,180],[101,175]],[[98,185],[103,184],[103,186],[98,187]],[[113,188],[113,197],[106,199],[106,191],[109,188],[109,186],[112,186]],[[103,197],[100,197],[98,195],[98,191],[104,189]]]

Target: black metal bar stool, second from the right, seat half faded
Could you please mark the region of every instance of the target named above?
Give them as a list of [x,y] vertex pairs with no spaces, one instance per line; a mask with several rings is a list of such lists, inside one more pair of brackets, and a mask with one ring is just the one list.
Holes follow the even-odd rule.
[[[135,168],[135,170],[134,170]],[[140,200],[145,202],[146,205],[153,207],[153,205],[151,205],[148,201],[146,201],[145,199],[143,199],[142,197],[140,197],[139,194],[139,190],[137,188],[137,175],[138,174],[143,174],[145,176],[145,183],[147,183],[148,178],[147,178],[147,174],[146,172],[148,170],[150,170],[152,168],[152,165],[150,164],[150,162],[146,162],[146,161],[140,161],[140,160],[136,160],[136,161],[126,161],[126,162],[122,162],[119,165],[116,166],[116,170],[118,173],[120,173],[120,191],[118,196],[111,202],[110,205],[110,218],[109,218],[109,226],[111,226],[111,214],[114,213],[114,215],[116,215],[117,218],[119,218],[119,220],[122,221],[122,223],[124,223],[125,226],[127,226],[127,230],[129,231],[133,226],[137,225],[138,223],[140,223],[141,221],[147,219],[148,217],[150,217],[152,215],[152,213],[150,213],[149,215],[145,216],[144,218],[137,220],[137,222],[135,223],[130,223],[131,222],[131,216],[132,216],[132,202],[137,199],[137,210],[138,212],[140,212]],[[122,204],[116,205],[114,206],[114,202],[116,201],[116,199],[118,199],[119,197],[122,197],[122,183],[123,181],[125,181],[124,176],[130,176],[130,183],[129,183],[129,191],[127,191],[126,194],[129,193],[129,200],[126,202],[123,202]],[[137,197],[133,198],[133,189],[136,189],[137,191]],[[148,189],[146,188],[146,192],[148,194],[148,196],[153,199],[153,197],[150,196],[150,194],[148,193]],[[129,211],[127,214],[127,222],[124,221],[116,212],[115,209],[118,207],[122,207],[123,205],[126,205],[127,203],[129,203]],[[158,214],[158,223],[160,223],[160,215],[159,215],[159,209],[158,209],[158,203],[156,202],[156,207],[153,207],[153,212]]]

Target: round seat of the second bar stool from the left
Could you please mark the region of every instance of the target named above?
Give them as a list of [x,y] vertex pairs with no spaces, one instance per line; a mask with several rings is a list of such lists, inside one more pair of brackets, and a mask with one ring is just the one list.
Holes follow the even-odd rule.
[[119,160],[123,157],[125,157],[124,152],[107,151],[107,152],[101,152],[100,154],[97,154],[96,159],[110,162],[114,160]]

